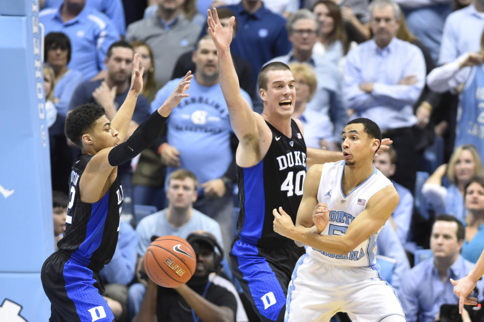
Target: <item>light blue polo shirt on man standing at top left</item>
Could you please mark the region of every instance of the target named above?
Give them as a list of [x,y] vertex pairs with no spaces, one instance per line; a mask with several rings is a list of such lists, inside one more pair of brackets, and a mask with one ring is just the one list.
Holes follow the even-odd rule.
[[69,68],[81,72],[84,79],[91,79],[104,69],[108,47],[119,40],[112,21],[86,6],[86,0],[64,0],[58,8],[44,9],[39,22],[44,25],[45,35],[56,31],[69,37],[72,44]]

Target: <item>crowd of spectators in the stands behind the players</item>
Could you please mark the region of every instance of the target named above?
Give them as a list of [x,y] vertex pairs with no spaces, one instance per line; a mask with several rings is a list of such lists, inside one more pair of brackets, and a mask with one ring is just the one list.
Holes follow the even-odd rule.
[[[304,124],[308,147],[340,150],[342,129],[356,117],[374,120],[393,140],[374,160],[400,196],[378,238],[379,255],[391,263],[382,263],[382,271],[390,270],[382,276],[407,321],[443,319],[444,307],[457,309],[449,278],[465,276],[484,249],[484,0],[136,3],[45,0],[39,15],[56,241],[65,229],[71,165],[80,153],[64,135],[67,113],[94,102],[112,118],[139,52],[144,89],[129,136],[179,78],[194,73],[190,97],[173,109],[156,144],[118,170],[123,222],[113,259],[101,271],[117,318],[185,320],[193,314],[257,322],[226,261],[236,234],[237,139],[207,35],[207,9],[214,6],[222,25],[235,17],[230,48],[241,94],[255,111],[262,111],[259,70],[281,61],[294,75],[293,117]],[[155,213],[138,223],[136,205]],[[197,245],[205,271],[188,289],[168,291],[146,279],[145,249],[162,235]],[[421,259],[425,249],[430,257]],[[212,288],[197,302],[191,292],[202,295],[200,281]],[[482,291],[478,284],[479,300]],[[207,311],[200,301],[213,305]]]

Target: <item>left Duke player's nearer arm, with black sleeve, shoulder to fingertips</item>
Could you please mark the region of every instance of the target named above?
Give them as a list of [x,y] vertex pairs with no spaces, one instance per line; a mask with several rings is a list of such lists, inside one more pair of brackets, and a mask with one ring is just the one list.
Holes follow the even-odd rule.
[[165,102],[138,126],[126,142],[103,149],[91,158],[79,182],[83,202],[99,201],[109,188],[106,182],[113,168],[134,158],[155,142],[171,110],[181,99],[189,96],[186,91],[192,78],[191,72],[188,72]]

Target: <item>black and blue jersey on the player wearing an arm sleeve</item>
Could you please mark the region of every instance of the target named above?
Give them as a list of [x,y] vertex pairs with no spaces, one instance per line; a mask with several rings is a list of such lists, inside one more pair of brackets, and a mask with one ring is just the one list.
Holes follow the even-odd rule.
[[116,177],[96,203],[81,201],[79,181],[92,155],[83,154],[74,163],[69,183],[66,231],[58,242],[59,251],[94,271],[109,263],[116,248],[123,189]]

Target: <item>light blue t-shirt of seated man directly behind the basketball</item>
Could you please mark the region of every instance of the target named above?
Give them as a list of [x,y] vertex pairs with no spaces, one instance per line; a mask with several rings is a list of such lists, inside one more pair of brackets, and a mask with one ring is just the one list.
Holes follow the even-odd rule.
[[184,226],[175,228],[166,220],[166,209],[158,211],[154,214],[143,218],[136,226],[136,233],[138,234],[138,254],[145,255],[146,248],[151,243],[151,236],[178,236],[186,239],[190,233],[196,230],[203,230],[212,233],[220,245],[222,243],[222,231],[220,225],[202,214],[198,210],[193,209],[192,218]]

